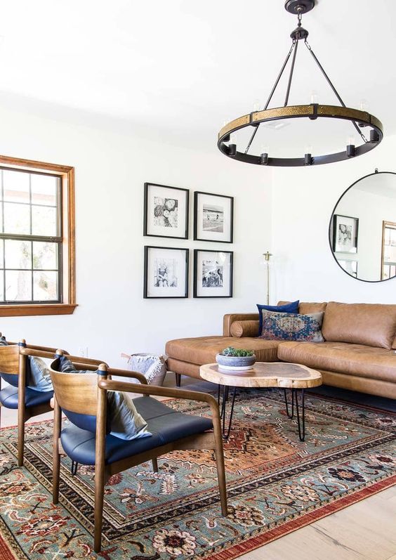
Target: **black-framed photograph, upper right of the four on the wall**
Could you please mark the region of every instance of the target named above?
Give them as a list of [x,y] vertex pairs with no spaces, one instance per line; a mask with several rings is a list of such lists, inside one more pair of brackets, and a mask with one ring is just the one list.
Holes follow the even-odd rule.
[[234,197],[194,193],[194,240],[232,243]]

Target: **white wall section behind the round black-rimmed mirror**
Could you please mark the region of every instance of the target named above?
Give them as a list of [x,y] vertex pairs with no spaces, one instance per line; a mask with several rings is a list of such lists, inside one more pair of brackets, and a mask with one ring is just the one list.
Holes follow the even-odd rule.
[[276,258],[276,297],[396,302],[395,279],[369,283],[344,273],[331,254],[328,234],[338,197],[376,167],[379,171],[395,171],[395,150],[396,136],[385,136],[378,148],[352,161],[275,170],[272,249]]

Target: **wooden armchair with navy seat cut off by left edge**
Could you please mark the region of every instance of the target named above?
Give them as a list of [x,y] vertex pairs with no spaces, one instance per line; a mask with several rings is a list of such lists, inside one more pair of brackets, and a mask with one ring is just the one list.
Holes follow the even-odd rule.
[[[48,346],[27,345],[24,339],[18,344],[8,342],[8,346],[0,346],[0,420],[1,407],[18,409],[18,467],[23,465],[25,422],[29,418],[49,412],[53,397],[53,391],[34,391],[26,386],[27,356],[53,358],[55,351]],[[1,389],[1,379],[9,386]]]

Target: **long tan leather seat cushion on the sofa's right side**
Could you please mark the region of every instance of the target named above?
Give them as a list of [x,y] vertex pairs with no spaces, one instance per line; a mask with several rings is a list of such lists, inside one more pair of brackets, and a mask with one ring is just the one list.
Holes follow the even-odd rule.
[[314,370],[375,377],[396,383],[396,354],[387,349],[346,342],[282,342],[279,360],[301,363]]

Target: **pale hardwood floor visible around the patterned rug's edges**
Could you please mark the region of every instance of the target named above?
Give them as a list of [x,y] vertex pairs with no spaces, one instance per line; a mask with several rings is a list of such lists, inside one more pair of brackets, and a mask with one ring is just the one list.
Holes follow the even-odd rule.
[[[174,375],[164,383],[174,386]],[[213,385],[183,377],[183,389]],[[32,422],[51,418],[51,412]],[[15,410],[1,410],[1,426],[16,424]],[[396,560],[396,486],[268,543],[240,560]]]

